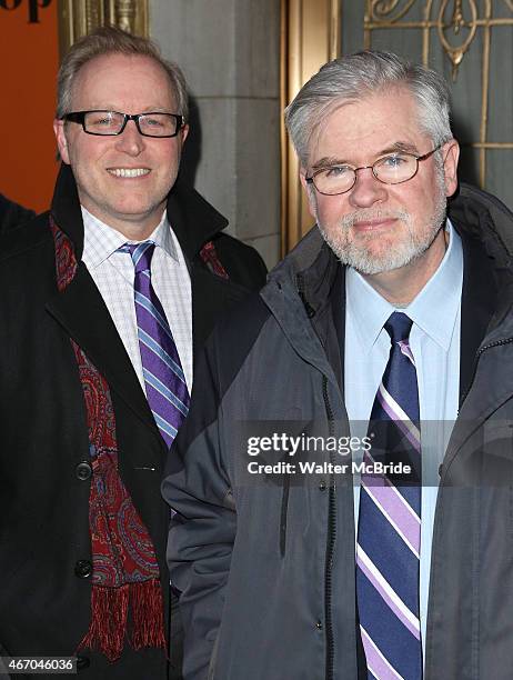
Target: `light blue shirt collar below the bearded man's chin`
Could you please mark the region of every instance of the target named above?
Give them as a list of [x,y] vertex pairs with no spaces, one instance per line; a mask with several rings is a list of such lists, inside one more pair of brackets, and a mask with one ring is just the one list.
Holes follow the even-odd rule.
[[446,220],[449,247],[440,267],[406,307],[398,309],[381,297],[352,267],[348,267],[345,291],[362,352],[369,353],[393,311],[406,313],[424,333],[442,349],[449,350],[463,283],[463,249],[461,238]]

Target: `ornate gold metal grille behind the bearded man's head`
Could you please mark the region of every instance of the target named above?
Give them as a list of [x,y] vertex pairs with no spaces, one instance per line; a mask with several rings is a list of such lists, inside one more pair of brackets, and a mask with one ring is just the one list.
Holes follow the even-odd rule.
[[[365,49],[386,47],[450,77],[453,123],[463,151],[461,176],[511,206],[513,0],[365,0],[364,4]],[[406,32],[416,40],[409,40]]]

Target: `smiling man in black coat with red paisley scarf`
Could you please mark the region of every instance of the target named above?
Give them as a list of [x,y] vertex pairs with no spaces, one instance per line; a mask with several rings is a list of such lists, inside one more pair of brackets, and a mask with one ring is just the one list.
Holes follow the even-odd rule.
[[187,88],[151,41],[95,30],[58,98],[51,210],[0,249],[0,656],[178,679],[162,470],[198,350],[265,268],[178,180]]

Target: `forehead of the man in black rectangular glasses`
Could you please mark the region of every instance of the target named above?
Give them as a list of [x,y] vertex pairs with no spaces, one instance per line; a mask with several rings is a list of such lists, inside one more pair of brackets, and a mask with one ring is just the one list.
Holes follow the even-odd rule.
[[[127,113],[174,108],[174,96],[164,69],[151,57],[102,54],[77,73],[72,107],[114,108]],[[135,107],[138,110],[132,110]]]

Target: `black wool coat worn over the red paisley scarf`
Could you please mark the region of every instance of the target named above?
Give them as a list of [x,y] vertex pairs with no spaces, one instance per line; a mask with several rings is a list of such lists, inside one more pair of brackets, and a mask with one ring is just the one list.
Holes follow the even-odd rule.
[[[80,262],[83,224],[67,166],[51,214],[79,261],[63,292],[57,290],[48,212],[7,232],[0,244],[0,656],[72,656],[89,627],[91,581],[77,568],[91,560],[90,479],[78,473],[89,460],[89,441],[70,338],[109,383],[120,476],[152,538],[169,598],[169,508],[160,494],[169,452],[103,299]],[[197,356],[217,319],[263,284],[265,267],[252,248],[221,233],[227,221],[194,190],[175,184],[168,214],[190,270]],[[208,241],[229,280],[201,259]],[[89,650],[80,652],[79,664],[80,674],[93,680],[167,677],[161,651],[133,652],[128,646],[114,664]]]

